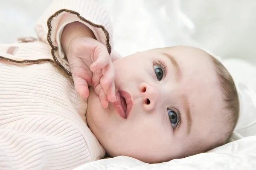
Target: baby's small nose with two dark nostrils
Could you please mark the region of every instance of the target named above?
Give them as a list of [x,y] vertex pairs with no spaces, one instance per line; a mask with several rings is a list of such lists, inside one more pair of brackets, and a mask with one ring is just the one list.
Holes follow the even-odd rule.
[[139,89],[143,98],[143,109],[149,112],[154,111],[159,98],[159,92],[157,91],[157,88],[147,83],[142,83],[139,85]]

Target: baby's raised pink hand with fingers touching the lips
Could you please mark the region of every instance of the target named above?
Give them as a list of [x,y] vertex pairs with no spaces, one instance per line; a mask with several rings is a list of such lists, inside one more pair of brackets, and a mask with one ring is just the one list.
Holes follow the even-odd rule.
[[66,55],[80,96],[89,96],[89,84],[99,95],[103,107],[116,101],[114,68],[105,45],[91,37],[76,37],[70,42]]

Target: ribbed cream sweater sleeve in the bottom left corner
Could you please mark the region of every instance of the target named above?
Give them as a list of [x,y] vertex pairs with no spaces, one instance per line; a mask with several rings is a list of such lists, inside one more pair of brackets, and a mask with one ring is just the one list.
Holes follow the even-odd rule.
[[66,170],[92,160],[79,130],[67,119],[29,116],[0,127],[1,170]]

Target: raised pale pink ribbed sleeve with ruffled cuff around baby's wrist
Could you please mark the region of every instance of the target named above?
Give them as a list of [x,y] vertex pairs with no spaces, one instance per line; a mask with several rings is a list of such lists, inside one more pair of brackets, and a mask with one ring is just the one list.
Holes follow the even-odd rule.
[[[113,45],[109,16],[94,0],[54,0],[37,20],[35,30],[38,39],[51,46],[55,63],[70,76],[70,67],[61,48],[61,34],[67,24],[75,21],[88,26],[96,39],[106,46],[109,54]],[[114,58],[112,60],[118,58],[116,53],[111,56]]]

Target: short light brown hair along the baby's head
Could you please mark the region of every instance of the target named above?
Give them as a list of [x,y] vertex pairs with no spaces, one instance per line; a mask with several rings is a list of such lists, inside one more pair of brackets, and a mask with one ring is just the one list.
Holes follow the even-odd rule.
[[209,56],[211,57],[212,62],[215,66],[215,71],[220,82],[221,92],[223,94],[223,101],[225,105],[225,107],[223,108],[223,116],[224,120],[226,121],[225,123],[227,125],[227,130],[224,131],[224,141],[218,144],[222,145],[226,144],[229,141],[238,122],[239,97],[236,90],[235,82],[230,73],[227,71],[224,65],[222,65],[222,63],[218,61],[218,59],[212,57],[211,55]]

